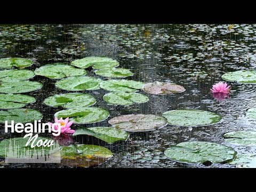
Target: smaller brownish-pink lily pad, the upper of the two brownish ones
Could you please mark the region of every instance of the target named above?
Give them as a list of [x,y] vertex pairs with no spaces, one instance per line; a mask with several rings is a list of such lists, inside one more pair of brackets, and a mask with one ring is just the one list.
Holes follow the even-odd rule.
[[152,82],[146,83],[142,86],[142,90],[146,93],[151,94],[172,94],[172,93],[181,93],[185,91],[185,88],[181,85],[173,83],[164,83],[164,82]]

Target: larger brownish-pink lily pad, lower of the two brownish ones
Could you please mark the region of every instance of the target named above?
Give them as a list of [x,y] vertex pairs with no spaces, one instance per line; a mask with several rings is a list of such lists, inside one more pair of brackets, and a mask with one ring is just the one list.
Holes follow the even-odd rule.
[[167,120],[157,115],[131,114],[111,118],[108,123],[116,129],[140,132],[162,128],[167,124]]

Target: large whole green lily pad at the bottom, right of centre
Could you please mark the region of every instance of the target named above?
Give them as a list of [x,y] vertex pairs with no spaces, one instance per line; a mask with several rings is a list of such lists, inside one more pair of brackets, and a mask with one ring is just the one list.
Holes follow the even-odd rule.
[[181,163],[221,163],[234,159],[236,151],[225,145],[203,141],[181,142],[164,151],[164,155]]

